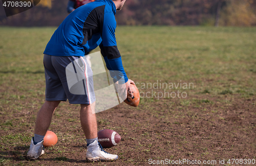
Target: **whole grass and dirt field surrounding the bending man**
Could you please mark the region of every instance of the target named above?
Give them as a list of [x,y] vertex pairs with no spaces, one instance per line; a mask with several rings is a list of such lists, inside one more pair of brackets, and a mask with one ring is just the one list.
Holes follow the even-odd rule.
[[84,163],[79,105],[62,102],[50,126],[58,143],[39,160],[27,161],[36,114],[45,101],[42,52],[54,31],[0,27],[0,164],[256,160],[256,28],[120,26],[118,49],[141,92],[140,105],[122,103],[97,113],[99,130],[113,129],[122,137],[106,150],[119,159]]

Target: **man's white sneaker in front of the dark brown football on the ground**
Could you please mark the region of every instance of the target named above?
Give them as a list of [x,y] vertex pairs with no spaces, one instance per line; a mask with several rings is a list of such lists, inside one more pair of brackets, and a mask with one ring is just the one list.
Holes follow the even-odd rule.
[[98,140],[93,141],[87,147],[86,159],[89,161],[113,161],[117,158],[117,155],[105,152]]

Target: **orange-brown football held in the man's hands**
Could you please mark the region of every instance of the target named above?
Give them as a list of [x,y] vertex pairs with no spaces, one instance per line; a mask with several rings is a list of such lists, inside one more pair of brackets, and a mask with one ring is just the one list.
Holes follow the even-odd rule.
[[140,103],[140,92],[136,85],[131,84],[132,94],[129,92],[127,93],[127,98],[124,100],[124,102],[130,106],[137,107]]

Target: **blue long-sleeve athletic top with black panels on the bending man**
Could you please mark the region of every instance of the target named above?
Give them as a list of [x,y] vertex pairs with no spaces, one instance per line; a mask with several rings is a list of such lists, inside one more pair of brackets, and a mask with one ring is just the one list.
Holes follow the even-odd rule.
[[48,42],[44,54],[52,56],[84,56],[100,45],[109,70],[115,70],[114,81],[127,82],[121,55],[117,49],[116,6],[112,0],[98,0],[83,5],[60,24]]

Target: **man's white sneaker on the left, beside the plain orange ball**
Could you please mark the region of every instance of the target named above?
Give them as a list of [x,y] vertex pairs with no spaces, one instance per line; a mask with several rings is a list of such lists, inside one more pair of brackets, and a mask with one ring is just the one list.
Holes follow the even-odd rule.
[[44,140],[40,141],[36,145],[34,145],[33,137],[31,139],[30,148],[27,154],[28,160],[36,160],[41,155],[45,154],[45,148],[42,145],[44,143]]

